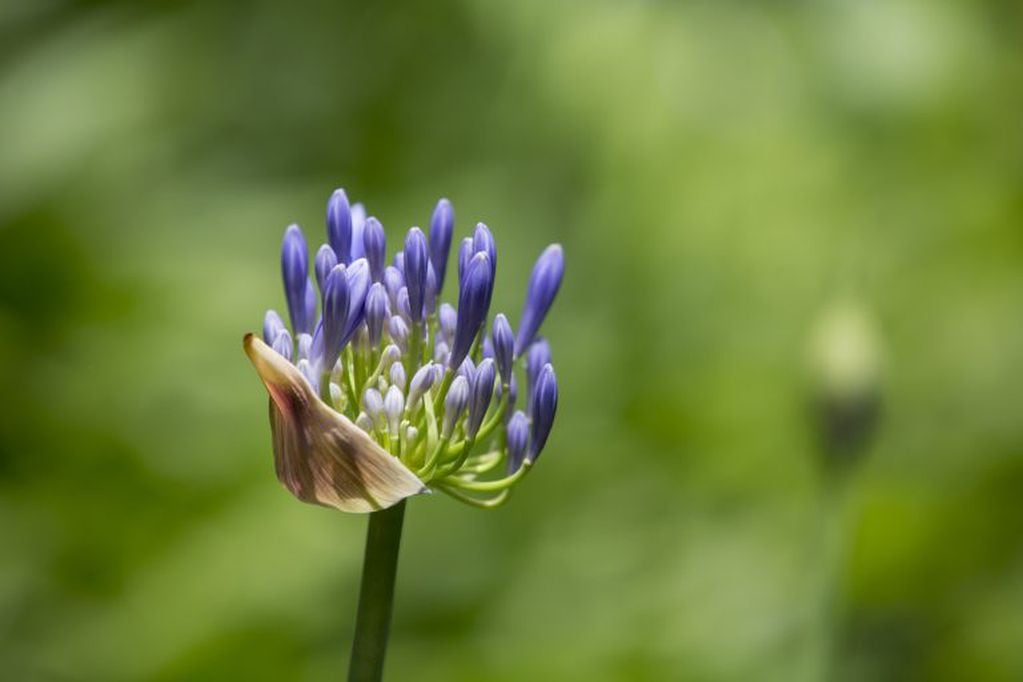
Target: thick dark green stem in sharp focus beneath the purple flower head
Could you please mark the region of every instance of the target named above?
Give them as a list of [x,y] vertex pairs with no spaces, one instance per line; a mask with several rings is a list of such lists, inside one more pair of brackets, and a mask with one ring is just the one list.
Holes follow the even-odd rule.
[[398,573],[398,548],[405,518],[405,501],[369,514],[362,587],[355,617],[355,641],[348,669],[349,682],[379,682],[384,675],[388,632]]

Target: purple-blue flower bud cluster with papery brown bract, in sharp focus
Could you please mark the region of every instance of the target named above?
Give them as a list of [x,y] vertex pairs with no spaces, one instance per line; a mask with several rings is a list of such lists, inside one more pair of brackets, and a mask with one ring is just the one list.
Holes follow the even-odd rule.
[[284,231],[291,326],[270,310],[263,340],[249,334],[244,349],[270,394],[277,478],[299,499],[373,511],[439,490],[495,506],[539,457],[558,381],[537,334],[562,247],[537,259],[516,334],[504,315],[489,318],[497,247],[483,223],[458,246],[457,308],[440,302],[453,230],[441,199],[429,235],[408,230],[388,265],[384,227],[338,189],[312,268],[301,228]]

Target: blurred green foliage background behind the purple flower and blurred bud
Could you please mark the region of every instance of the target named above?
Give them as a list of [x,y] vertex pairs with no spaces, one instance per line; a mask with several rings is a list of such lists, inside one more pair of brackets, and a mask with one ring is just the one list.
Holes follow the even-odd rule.
[[[344,186],[392,243],[486,221],[513,323],[568,262],[554,434],[499,510],[412,502],[390,679],[1023,679],[1021,26],[6,0],[0,678],[342,677],[365,519],[281,490],[240,340]],[[882,398],[839,467],[843,310]]]

